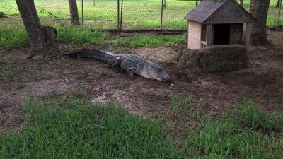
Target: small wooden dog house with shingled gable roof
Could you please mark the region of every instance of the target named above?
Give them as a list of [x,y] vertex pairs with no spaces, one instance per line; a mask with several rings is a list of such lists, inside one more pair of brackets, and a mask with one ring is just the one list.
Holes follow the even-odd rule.
[[246,45],[250,40],[250,23],[255,18],[235,0],[203,0],[187,19],[187,48],[201,49],[212,45],[243,43],[246,23]]

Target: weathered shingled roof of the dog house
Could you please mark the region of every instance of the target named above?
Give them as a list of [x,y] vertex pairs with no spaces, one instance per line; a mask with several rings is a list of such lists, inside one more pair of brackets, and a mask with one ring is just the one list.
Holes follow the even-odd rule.
[[235,0],[203,0],[185,19],[202,24],[251,23],[255,18]]

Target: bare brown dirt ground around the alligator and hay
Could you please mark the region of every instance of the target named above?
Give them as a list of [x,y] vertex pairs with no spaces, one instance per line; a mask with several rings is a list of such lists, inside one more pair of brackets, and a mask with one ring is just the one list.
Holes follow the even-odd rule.
[[[269,30],[268,36],[275,46],[251,49],[248,69],[231,73],[204,74],[180,68],[176,57],[185,45],[138,49],[91,46],[155,61],[171,75],[170,83],[141,76],[131,80],[126,73],[115,73],[108,64],[93,59],[24,59],[28,49],[8,50],[0,58],[1,74],[5,69],[19,71],[11,79],[0,79],[0,131],[23,126],[19,112],[25,98],[40,100],[53,91],[67,94],[84,90],[93,101],[112,100],[134,114],[163,114],[169,118],[170,99],[187,95],[192,95],[192,105],[204,112],[220,112],[243,98],[253,99],[270,112],[282,110],[283,32]],[[190,115],[183,115],[183,122],[193,124]]]

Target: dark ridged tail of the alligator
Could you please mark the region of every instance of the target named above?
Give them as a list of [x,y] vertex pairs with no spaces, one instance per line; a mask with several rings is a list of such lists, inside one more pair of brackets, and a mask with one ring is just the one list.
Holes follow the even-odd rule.
[[97,49],[79,49],[76,52],[68,54],[69,57],[82,57],[88,59],[97,59],[98,61],[103,61],[106,64],[114,64],[116,54],[110,52],[102,52]]

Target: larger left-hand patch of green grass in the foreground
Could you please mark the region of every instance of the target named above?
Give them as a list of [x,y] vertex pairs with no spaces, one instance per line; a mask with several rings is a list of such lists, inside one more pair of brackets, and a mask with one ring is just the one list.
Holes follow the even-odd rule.
[[0,158],[177,158],[158,121],[134,117],[120,107],[89,102],[84,95],[39,104],[28,100],[26,127],[0,139]]

